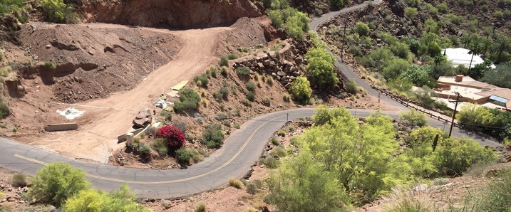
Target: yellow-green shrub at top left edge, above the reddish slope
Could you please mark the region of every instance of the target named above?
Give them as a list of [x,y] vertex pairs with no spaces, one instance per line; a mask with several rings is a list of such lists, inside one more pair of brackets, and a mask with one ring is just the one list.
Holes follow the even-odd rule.
[[76,23],[78,14],[72,5],[67,5],[63,0],[41,0],[39,1],[43,14],[48,21],[56,23]]

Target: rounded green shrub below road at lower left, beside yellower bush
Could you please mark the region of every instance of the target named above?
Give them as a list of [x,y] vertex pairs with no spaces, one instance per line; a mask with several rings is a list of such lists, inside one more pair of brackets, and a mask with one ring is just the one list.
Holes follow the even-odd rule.
[[29,197],[41,203],[61,206],[66,199],[88,188],[85,171],[62,162],[43,166],[33,177]]

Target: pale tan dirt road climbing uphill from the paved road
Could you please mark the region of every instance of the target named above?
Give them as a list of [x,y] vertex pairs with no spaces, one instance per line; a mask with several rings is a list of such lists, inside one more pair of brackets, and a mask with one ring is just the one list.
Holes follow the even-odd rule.
[[[86,24],[91,28],[123,28],[127,26],[105,23]],[[142,83],[125,92],[118,92],[105,99],[73,105],[86,115],[81,118],[81,127],[75,132],[58,132],[41,138],[34,144],[54,149],[59,153],[83,159],[105,162],[110,151],[123,147],[117,144],[117,136],[132,126],[131,121],[138,111],[151,109],[155,99],[182,80],[189,80],[202,73],[212,63],[215,37],[231,28],[205,28],[187,31],[168,31],[156,28],[140,30],[172,33],[179,36],[184,45],[176,58],[148,75]]]

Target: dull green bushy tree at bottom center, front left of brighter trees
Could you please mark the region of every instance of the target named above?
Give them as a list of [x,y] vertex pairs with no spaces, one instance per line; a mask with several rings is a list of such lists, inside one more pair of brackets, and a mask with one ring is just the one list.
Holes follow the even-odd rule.
[[340,211],[349,203],[339,181],[307,151],[284,161],[268,182],[269,200],[279,211]]

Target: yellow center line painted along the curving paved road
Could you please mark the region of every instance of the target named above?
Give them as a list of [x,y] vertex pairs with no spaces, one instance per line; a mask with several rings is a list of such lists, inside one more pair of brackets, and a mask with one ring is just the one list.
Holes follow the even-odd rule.
[[[191,176],[191,177],[188,177],[188,178],[176,179],[176,180],[171,180],[171,181],[142,181],[142,182],[141,181],[128,181],[128,180],[122,180],[122,179],[113,179],[113,178],[104,177],[104,176],[97,176],[97,175],[93,175],[93,174],[86,174],[86,176],[91,177],[91,178],[95,178],[95,179],[103,179],[103,180],[106,180],[106,181],[115,181],[115,182],[120,182],[120,183],[125,183],[125,184],[170,184],[170,183],[177,183],[177,182],[182,182],[182,181],[190,181],[192,179],[197,179],[197,178],[200,178],[202,176],[207,176],[207,175],[212,174],[212,173],[214,173],[214,172],[224,168],[225,166],[229,165],[232,161],[234,161],[234,159],[236,159],[239,156],[239,154],[241,154],[243,149],[245,147],[247,147],[247,144],[249,143],[250,139],[252,139],[252,137],[254,137],[254,135],[259,131],[259,129],[261,129],[261,127],[263,127],[264,125],[268,124],[269,122],[273,122],[274,120],[277,120],[277,119],[279,119],[281,117],[284,117],[284,116],[282,115],[282,116],[276,117],[276,118],[274,118],[272,120],[269,120],[269,121],[264,122],[263,124],[261,124],[259,127],[257,127],[256,130],[254,130],[254,132],[252,132],[252,134],[250,134],[250,137],[244,142],[243,146],[241,148],[239,148],[238,152],[236,154],[234,154],[234,156],[231,159],[229,159],[229,161],[225,162],[225,164],[222,164],[222,166],[219,166],[217,169],[213,169],[211,171],[207,171],[204,174],[199,174],[197,176]],[[43,161],[38,161],[36,159],[31,159],[29,157],[24,157],[24,156],[19,155],[19,154],[14,154],[14,157],[25,159],[27,161],[31,161],[31,162],[34,162],[36,164],[41,164],[43,166],[48,165],[47,163],[45,163]]]

